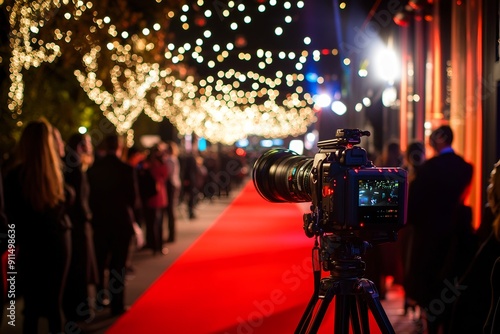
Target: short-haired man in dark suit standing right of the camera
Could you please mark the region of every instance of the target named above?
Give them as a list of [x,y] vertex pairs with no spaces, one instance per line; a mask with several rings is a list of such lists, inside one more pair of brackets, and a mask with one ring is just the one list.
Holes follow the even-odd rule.
[[[426,317],[429,333],[447,333],[452,303],[459,290],[455,278],[472,254],[464,247],[472,236],[472,213],[464,205],[473,167],[452,149],[453,131],[441,126],[430,136],[436,155],[421,165],[410,185],[408,224],[413,227],[409,282],[406,294]],[[458,260],[458,261],[457,261]]]

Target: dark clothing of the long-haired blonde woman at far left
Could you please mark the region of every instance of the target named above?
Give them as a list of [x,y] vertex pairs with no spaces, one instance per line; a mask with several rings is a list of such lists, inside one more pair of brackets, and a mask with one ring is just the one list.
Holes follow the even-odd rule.
[[23,194],[20,167],[11,170],[4,181],[5,212],[15,231],[16,262],[11,270],[18,273],[16,292],[24,296],[25,314],[61,321],[60,301],[71,248],[65,203],[35,210]]

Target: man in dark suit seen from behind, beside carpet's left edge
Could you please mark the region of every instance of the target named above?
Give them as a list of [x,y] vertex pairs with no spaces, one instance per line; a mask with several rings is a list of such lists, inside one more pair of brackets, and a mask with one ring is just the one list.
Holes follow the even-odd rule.
[[[97,310],[106,304],[104,300],[109,295],[113,315],[125,311],[125,269],[134,235],[134,209],[139,198],[135,171],[119,158],[123,147],[120,139],[117,135],[106,137],[105,155],[96,160],[87,172],[99,273]],[[109,270],[107,276],[106,269]]]

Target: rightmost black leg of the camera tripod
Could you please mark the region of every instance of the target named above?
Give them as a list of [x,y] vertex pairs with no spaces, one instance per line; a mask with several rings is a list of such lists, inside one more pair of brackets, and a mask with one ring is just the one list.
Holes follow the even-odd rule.
[[[372,312],[373,317],[377,321],[377,324],[382,333],[394,334],[395,332],[392,328],[391,322],[389,321],[389,318],[387,317],[387,314],[385,313],[384,308],[380,303],[375,284],[370,280],[360,279],[356,289],[358,290],[358,293],[361,293],[363,299],[368,305],[368,308]],[[366,314],[363,314],[362,316],[366,317],[366,319],[363,319],[363,322],[366,322],[368,326],[368,312],[366,312]]]

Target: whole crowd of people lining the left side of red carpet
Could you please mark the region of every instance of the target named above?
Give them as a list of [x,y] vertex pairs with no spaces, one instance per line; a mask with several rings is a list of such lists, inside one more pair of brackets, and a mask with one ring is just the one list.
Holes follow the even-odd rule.
[[[180,152],[174,141],[127,148],[116,133],[94,149],[88,134],[64,142],[46,119],[28,123],[0,178],[0,233],[15,231],[13,247],[0,245],[18,273],[23,332],[37,333],[41,318],[51,333],[64,333],[103,308],[112,316],[125,312],[133,251],[163,254],[164,244],[176,241],[180,204],[196,219],[200,199],[229,191],[234,182],[236,175],[216,173],[224,165],[203,158]],[[5,305],[4,275],[0,281]]]

